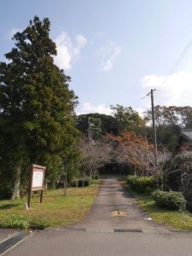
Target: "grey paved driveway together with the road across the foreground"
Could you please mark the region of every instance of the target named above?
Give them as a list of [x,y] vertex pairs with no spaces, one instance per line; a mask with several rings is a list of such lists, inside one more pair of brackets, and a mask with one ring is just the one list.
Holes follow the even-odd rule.
[[[111,212],[124,212],[113,217]],[[7,255],[192,255],[192,233],[178,233],[147,220],[117,179],[104,178],[89,216],[73,228],[33,236]]]

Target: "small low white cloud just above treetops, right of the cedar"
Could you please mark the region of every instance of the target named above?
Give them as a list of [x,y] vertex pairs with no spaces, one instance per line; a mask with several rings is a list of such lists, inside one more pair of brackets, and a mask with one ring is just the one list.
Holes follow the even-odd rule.
[[90,102],[85,102],[78,114],[84,113],[105,113],[111,114],[111,109],[105,104],[100,104],[98,106],[92,106]]

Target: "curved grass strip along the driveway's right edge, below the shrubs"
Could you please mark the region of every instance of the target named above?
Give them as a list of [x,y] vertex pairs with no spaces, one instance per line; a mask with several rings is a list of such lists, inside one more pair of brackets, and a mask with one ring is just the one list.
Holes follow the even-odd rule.
[[176,230],[192,230],[192,213],[191,212],[178,212],[166,210],[164,208],[158,207],[153,200],[151,195],[139,194],[129,188],[125,183],[126,177],[119,177],[119,180],[124,183],[125,189],[131,191],[131,194],[134,195],[139,202],[140,206],[145,212],[148,212],[150,218],[153,218],[154,221],[166,224]]

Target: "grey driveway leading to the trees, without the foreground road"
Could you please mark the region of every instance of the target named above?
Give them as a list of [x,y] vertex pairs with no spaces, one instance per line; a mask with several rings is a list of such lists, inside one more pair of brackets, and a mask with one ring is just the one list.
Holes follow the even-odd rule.
[[[113,217],[113,212],[123,212],[125,216]],[[164,226],[148,220],[148,215],[141,210],[137,200],[118,182],[115,177],[102,179],[99,190],[88,218],[75,225],[86,230],[127,230],[145,233],[170,232]]]

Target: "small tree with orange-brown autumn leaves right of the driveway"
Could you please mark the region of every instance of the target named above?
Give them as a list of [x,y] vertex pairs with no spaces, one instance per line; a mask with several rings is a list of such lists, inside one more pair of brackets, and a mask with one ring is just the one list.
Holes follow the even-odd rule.
[[144,137],[129,131],[119,137],[109,136],[115,143],[113,155],[120,162],[131,164],[134,174],[154,176],[159,189],[163,189],[164,162],[166,152],[159,152],[155,160],[154,146]]

